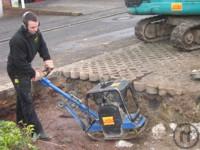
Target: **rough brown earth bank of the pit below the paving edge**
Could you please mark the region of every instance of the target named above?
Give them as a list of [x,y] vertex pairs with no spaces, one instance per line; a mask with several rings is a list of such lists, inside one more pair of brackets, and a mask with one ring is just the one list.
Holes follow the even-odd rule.
[[[70,92],[84,101],[88,90],[94,87],[97,82],[71,80],[65,78],[52,78],[52,82],[66,92]],[[33,97],[37,111],[40,109],[48,113],[48,109],[56,107],[57,102],[63,99],[52,89],[42,86],[40,83],[33,85]],[[200,96],[159,96],[150,95],[145,92],[136,92],[141,112],[147,116],[153,124],[164,122],[199,122],[200,121]],[[53,111],[53,110],[50,110]],[[44,114],[45,115],[45,114]],[[15,96],[5,97],[0,100],[0,119],[15,119]],[[152,124],[152,125],[153,125]]]

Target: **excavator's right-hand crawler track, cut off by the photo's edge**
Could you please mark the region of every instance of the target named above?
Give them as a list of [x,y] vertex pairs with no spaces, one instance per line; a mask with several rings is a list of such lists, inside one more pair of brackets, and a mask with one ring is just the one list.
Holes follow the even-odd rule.
[[200,22],[183,22],[171,33],[172,45],[182,51],[200,49]]

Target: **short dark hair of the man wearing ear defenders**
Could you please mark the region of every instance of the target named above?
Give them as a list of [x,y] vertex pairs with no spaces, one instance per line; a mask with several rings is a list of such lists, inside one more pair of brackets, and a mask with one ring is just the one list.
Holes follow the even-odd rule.
[[38,17],[35,13],[31,12],[31,11],[26,11],[23,15],[22,15],[22,22],[28,26],[28,21],[39,21]]

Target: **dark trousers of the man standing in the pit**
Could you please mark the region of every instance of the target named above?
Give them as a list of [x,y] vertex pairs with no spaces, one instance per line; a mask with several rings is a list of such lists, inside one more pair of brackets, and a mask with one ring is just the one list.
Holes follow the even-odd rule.
[[9,73],[9,77],[15,87],[16,102],[16,122],[23,121],[27,125],[34,125],[36,133],[43,132],[42,125],[34,109],[31,94],[31,79],[27,76],[16,76]]

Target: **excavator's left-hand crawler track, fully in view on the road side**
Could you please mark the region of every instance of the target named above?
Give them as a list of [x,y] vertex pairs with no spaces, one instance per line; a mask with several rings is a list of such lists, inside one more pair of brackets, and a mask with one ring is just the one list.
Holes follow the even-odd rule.
[[174,26],[167,24],[166,16],[154,16],[139,21],[135,27],[135,35],[145,42],[156,42],[170,37]]

